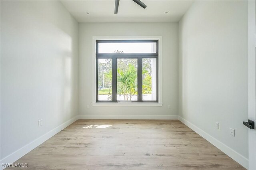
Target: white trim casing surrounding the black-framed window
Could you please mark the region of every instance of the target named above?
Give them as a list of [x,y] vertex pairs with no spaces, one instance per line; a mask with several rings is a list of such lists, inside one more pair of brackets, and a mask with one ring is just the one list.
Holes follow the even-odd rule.
[[[104,41],[104,42],[152,42],[152,40],[156,40],[158,43],[158,48],[156,53],[123,53],[123,54],[115,54],[115,53],[96,53],[96,45],[97,41]],[[131,41],[132,40],[132,41]],[[96,79],[97,79],[97,57],[98,58],[110,58],[108,56],[114,56],[114,58],[118,58],[118,56],[122,55],[126,58],[138,58],[139,56],[142,58],[156,58],[158,52],[158,62],[157,62],[157,71],[158,71],[158,101],[96,101]],[[137,55],[138,54],[138,55]],[[115,56],[116,55],[116,56]],[[112,57],[111,57],[112,58]],[[113,61],[112,61],[113,62]],[[162,106],[162,37],[161,36],[137,36],[137,37],[92,37],[92,105],[93,106]]]

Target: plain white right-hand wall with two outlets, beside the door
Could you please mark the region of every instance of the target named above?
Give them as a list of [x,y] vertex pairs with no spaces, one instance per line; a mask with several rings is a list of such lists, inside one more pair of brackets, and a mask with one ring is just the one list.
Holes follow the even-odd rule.
[[[179,22],[179,115],[245,161],[248,128],[242,121],[248,118],[247,3],[198,1]],[[214,128],[215,122],[220,123],[219,130]],[[235,129],[235,137],[229,128]]]

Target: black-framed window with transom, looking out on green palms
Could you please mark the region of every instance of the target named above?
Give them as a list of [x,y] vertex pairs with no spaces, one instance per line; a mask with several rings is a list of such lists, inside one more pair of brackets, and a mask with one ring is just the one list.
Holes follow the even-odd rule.
[[158,40],[97,40],[96,102],[158,102]]

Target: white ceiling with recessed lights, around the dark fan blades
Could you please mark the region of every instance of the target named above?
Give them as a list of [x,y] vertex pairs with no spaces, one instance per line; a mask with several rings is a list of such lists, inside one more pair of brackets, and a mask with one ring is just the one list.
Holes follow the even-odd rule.
[[[145,9],[132,0],[62,0],[78,22],[177,22],[192,5],[192,0],[141,0]],[[168,14],[164,12],[169,11]],[[86,14],[89,12],[90,14]]]

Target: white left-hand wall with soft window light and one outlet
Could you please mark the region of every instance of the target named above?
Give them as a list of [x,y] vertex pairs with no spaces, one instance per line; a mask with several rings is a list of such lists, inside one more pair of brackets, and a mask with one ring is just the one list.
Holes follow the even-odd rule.
[[1,159],[76,116],[77,65],[78,23],[60,2],[1,1]]

